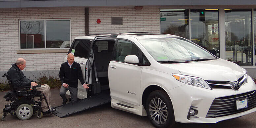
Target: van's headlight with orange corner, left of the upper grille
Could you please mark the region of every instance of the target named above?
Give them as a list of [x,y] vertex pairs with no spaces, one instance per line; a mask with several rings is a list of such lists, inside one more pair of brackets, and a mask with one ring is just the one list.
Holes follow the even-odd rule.
[[201,78],[190,77],[190,76],[174,74],[174,73],[173,73],[173,77],[176,80],[179,80],[180,82],[183,82],[183,83],[186,83],[186,84],[189,84],[189,85],[211,89],[211,87],[206,83],[206,81],[201,79]]

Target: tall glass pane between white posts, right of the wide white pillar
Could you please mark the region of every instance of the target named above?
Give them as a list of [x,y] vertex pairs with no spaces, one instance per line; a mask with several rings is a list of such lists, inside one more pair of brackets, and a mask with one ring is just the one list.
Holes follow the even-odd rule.
[[252,65],[251,9],[225,9],[226,60]]

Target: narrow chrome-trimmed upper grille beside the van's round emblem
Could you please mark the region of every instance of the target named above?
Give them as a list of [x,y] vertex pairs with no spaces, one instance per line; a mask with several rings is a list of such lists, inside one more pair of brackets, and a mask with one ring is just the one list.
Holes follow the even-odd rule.
[[[240,86],[247,82],[246,76],[243,75],[236,82],[229,81],[214,81],[214,80],[206,80],[211,88],[225,88],[225,89],[234,89],[233,85],[237,82],[240,83]],[[234,89],[235,90],[235,89]]]

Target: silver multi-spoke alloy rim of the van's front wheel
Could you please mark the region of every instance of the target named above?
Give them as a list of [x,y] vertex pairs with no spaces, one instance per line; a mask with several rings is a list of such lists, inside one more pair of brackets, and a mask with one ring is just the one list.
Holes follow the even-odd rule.
[[150,101],[149,113],[152,120],[157,124],[164,124],[168,117],[167,107],[160,98],[153,98]]

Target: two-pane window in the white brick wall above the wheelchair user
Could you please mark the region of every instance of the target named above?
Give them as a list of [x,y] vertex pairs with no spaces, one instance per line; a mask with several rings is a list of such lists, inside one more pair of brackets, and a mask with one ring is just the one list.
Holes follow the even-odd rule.
[[70,47],[70,19],[20,20],[20,49]]

